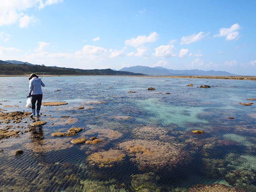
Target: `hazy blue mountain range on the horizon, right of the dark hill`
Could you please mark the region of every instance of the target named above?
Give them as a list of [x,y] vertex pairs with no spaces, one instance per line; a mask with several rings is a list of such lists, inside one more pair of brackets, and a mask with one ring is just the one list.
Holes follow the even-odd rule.
[[147,75],[210,75],[210,76],[234,76],[235,74],[231,74],[226,71],[204,71],[198,69],[192,70],[173,70],[167,69],[164,67],[147,67],[147,66],[133,66],[133,67],[124,67],[120,69],[120,71],[129,71],[133,73],[143,73]]

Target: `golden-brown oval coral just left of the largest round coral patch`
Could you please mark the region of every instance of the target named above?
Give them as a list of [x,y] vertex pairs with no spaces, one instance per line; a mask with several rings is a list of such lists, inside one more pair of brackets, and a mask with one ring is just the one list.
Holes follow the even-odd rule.
[[110,149],[108,151],[93,153],[88,156],[87,161],[98,167],[111,167],[113,164],[124,160],[125,154],[119,150]]

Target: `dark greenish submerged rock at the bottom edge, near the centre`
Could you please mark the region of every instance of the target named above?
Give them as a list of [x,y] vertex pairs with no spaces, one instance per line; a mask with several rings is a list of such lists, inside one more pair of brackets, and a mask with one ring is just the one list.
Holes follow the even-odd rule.
[[156,185],[160,179],[154,173],[144,173],[132,175],[131,189],[140,192],[161,192],[161,188]]

